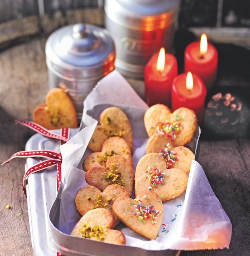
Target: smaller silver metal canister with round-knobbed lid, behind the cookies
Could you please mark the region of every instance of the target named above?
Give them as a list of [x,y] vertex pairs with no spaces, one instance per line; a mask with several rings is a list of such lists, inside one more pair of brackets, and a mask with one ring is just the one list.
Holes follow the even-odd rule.
[[75,24],[52,33],[45,46],[49,87],[66,88],[78,119],[83,100],[96,83],[114,69],[114,42],[106,29]]

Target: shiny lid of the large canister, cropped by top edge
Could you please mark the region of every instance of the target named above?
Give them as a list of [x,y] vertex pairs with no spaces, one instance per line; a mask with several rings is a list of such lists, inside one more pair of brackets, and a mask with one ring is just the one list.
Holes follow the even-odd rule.
[[124,26],[148,31],[175,22],[180,0],[105,0],[105,12]]

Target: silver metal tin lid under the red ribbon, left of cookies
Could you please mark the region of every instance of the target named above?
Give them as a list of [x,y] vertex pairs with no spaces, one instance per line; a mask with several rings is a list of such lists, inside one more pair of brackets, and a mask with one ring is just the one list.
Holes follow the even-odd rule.
[[[60,134],[60,130],[53,133]],[[70,137],[77,134],[78,129],[70,129]],[[26,143],[26,150],[48,149],[60,152],[60,140],[53,140],[40,134],[33,135]],[[28,158],[25,170],[42,161],[41,158]],[[56,249],[51,244],[49,235],[49,209],[56,199],[56,168],[33,173],[26,186],[31,244],[34,255],[55,255]]]

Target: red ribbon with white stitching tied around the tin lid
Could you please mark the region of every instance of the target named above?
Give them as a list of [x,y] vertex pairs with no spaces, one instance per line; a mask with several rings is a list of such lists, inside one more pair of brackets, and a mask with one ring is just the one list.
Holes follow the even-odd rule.
[[[37,133],[39,133],[43,136],[61,140],[61,145],[64,144],[65,142],[67,142],[70,137],[70,128],[61,129],[61,135],[58,135],[58,134],[52,133],[51,131],[45,129],[43,126],[38,125],[34,122],[16,120],[15,123],[20,123],[24,126],[27,126],[27,127],[31,128],[32,130],[37,131]],[[28,179],[29,175],[31,175],[32,173],[36,173],[38,171],[42,171],[46,168],[49,168],[49,167],[55,166],[55,165],[57,168],[56,191],[58,191],[58,188],[59,188],[59,185],[61,182],[61,163],[62,163],[61,153],[57,153],[57,152],[54,152],[51,150],[19,151],[19,152],[15,153],[14,155],[12,155],[12,157],[10,157],[10,159],[3,162],[1,165],[9,163],[10,160],[12,160],[16,157],[21,157],[21,158],[23,158],[23,157],[46,157],[46,158],[49,158],[48,160],[44,160],[44,161],[41,161],[41,162],[35,164],[34,166],[32,166],[31,168],[29,168],[26,171],[24,178],[22,180],[22,190],[24,192],[24,195],[26,195],[26,185],[27,185],[27,179]]]

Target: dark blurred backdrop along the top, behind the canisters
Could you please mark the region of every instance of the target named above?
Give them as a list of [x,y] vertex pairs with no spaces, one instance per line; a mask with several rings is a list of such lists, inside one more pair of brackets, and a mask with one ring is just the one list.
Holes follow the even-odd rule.
[[[39,8],[39,4],[44,8]],[[101,0],[1,0],[0,22],[27,16],[53,14],[77,8],[101,7]],[[40,10],[39,10],[40,9]],[[249,0],[182,0],[179,26],[188,27],[249,27]]]

